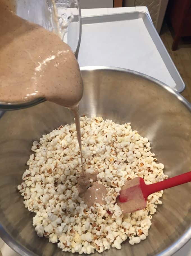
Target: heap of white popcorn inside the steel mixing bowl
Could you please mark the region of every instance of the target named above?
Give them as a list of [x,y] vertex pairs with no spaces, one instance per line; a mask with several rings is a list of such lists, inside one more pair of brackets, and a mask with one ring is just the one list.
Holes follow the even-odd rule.
[[168,178],[164,165],[156,163],[148,139],[133,131],[130,123],[81,117],[80,126],[84,170],[98,172],[97,182],[106,187],[106,204],[88,208],[79,197],[81,156],[76,127],[60,126],[33,142],[34,154],[17,187],[25,207],[35,213],[37,235],[63,251],[79,254],[121,249],[127,238],[131,245],[145,240],[163,191],[150,195],[144,210],[125,216],[116,198],[126,180],[142,177],[151,184]]

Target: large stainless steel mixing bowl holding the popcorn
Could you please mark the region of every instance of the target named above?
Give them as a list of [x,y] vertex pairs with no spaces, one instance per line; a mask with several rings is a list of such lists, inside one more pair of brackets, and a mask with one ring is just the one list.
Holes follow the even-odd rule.
[[[153,78],[124,69],[86,67],[82,76],[81,114],[131,122],[134,130],[149,138],[166,174],[190,170],[191,106],[181,95]],[[71,255],[37,237],[33,214],[25,209],[17,191],[32,142],[71,122],[69,110],[50,102],[6,112],[0,119],[0,236],[23,256]],[[166,190],[148,238],[134,246],[125,241],[120,251],[112,248],[103,255],[172,255],[191,237],[190,191],[190,183]]]

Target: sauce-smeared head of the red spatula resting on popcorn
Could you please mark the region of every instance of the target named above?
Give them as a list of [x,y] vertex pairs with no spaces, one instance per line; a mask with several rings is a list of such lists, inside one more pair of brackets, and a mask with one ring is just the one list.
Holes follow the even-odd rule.
[[145,208],[147,200],[145,200],[142,192],[142,182],[144,180],[139,177],[125,182],[117,198],[117,204],[123,213],[132,213]]

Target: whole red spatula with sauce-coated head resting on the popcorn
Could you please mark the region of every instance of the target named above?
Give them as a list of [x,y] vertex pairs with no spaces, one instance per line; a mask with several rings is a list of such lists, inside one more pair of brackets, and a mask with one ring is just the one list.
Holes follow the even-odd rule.
[[145,208],[147,197],[154,192],[175,187],[191,181],[191,172],[173,178],[146,185],[143,178],[126,181],[117,198],[117,204],[123,213],[132,213]]

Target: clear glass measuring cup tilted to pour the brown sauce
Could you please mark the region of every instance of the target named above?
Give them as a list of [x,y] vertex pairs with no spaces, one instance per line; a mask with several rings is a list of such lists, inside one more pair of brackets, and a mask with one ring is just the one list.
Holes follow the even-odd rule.
[[[58,34],[76,58],[81,41],[81,11],[78,0],[15,0],[15,13]],[[28,108],[45,101],[38,98],[26,102],[0,102],[0,110]]]

